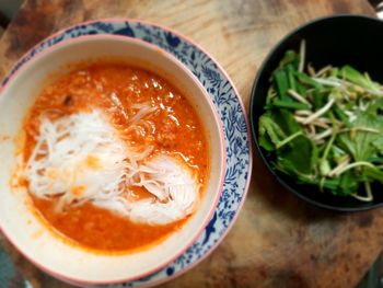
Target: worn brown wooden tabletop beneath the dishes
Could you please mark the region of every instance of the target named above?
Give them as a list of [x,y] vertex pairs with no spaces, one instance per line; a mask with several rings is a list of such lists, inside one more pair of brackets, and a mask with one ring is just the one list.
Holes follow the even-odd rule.
[[[65,26],[126,16],[170,26],[200,44],[228,71],[247,108],[259,65],[285,34],[311,19],[348,12],[373,15],[367,0],[30,0],[0,39],[0,77]],[[35,287],[68,287],[0,241]],[[232,231],[200,265],[163,287],[353,287],[382,247],[383,209],[316,209],[283,191],[255,154],[248,196]]]

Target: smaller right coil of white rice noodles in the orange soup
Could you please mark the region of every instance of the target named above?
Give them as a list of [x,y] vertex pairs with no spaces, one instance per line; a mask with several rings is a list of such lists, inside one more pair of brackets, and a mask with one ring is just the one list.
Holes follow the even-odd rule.
[[134,222],[166,224],[194,212],[198,199],[198,184],[190,171],[177,159],[159,154],[139,168],[137,186],[144,187],[155,198],[135,203],[119,199],[95,203],[118,210]]

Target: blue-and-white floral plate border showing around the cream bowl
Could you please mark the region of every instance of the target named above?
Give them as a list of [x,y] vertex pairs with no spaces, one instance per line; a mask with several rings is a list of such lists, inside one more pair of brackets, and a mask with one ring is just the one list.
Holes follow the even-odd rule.
[[239,212],[249,181],[252,161],[246,113],[233,84],[214,60],[200,48],[174,32],[153,24],[129,20],[94,21],[79,24],[55,34],[25,55],[3,80],[2,85],[9,81],[9,78],[23,64],[47,47],[69,38],[94,34],[114,34],[139,38],[154,44],[175,56],[206,88],[223,123],[227,149],[225,178],[222,196],[205,231],[183,255],[165,268],[141,279],[114,285],[113,287],[153,285],[186,270],[204,258],[206,254],[217,246]]

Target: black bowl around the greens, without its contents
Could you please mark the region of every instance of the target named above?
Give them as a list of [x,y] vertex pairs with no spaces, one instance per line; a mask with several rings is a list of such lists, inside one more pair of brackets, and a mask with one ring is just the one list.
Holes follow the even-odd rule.
[[[288,49],[299,50],[300,42],[306,41],[306,62],[315,68],[326,65],[351,65],[368,71],[371,78],[383,83],[383,21],[361,15],[337,15],[312,21],[285,37],[268,55],[260,67],[251,95],[251,124],[256,148],[274,176],[300,198],[332,210],[360,211],[383,206],[382,186],[373,187],[374,199],[362,203],[352,197],[321,193],[311,185],[302,185],[293,178],[274,171],[266,151],[258,143],[258,119],[264,113],[266,93],[271,72]],[[376,193],[378,189],[378,193]]]

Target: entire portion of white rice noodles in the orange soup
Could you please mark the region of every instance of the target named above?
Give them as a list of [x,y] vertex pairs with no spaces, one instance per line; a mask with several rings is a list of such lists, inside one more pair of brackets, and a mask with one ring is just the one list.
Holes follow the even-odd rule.
[[[151,112],[140,107],[132,123]],[[195,210],[197,178],[184,159],[152,153],[152,146],[128,147],[100,111],[56,120],[43,116],[24,175],[32,194],[58,198],[58,210],[92,201],[135,222],[181,220]],[[152,197],[131,200],[132,186]]]

